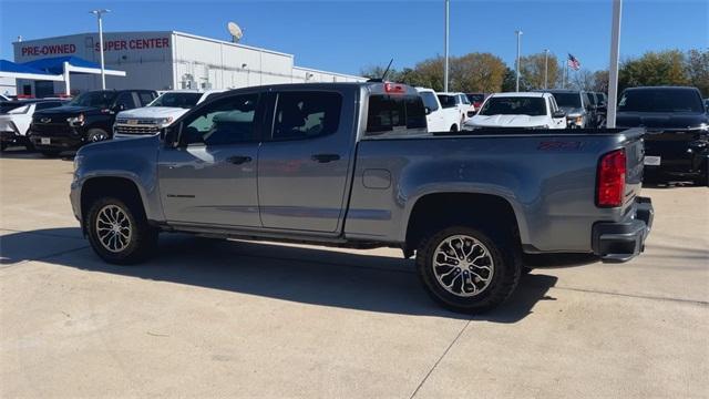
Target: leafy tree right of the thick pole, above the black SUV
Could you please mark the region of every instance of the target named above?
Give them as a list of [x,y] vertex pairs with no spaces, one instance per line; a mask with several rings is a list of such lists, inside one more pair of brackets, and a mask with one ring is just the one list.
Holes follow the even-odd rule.
[[639,59],[626,60],[618,71],[618,89],[643,85],[689,84],[685,54],[679,50],[647,52]]

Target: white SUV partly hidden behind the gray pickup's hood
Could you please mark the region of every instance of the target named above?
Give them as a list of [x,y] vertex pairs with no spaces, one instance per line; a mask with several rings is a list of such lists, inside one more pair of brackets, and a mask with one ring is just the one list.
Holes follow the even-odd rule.
[[126,139],[160,133],[189,109],[224,90],[174,90],[162,93],[146,106],[120,112],[113,124],[113,139]]

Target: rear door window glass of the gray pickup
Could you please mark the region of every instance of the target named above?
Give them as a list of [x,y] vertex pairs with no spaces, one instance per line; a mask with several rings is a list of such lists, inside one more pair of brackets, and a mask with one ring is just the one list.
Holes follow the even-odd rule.
[[273,140],[304,140],[337,132],[342,95],[336,92],[278,94]]

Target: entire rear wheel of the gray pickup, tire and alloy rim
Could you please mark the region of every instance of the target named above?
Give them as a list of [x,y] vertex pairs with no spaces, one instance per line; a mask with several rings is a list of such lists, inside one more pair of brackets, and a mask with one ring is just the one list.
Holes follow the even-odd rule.
[[513,237],[453,226],[421,242],[417,270],[435,301],[453,311],[480,314],[512,295],[522,265]]

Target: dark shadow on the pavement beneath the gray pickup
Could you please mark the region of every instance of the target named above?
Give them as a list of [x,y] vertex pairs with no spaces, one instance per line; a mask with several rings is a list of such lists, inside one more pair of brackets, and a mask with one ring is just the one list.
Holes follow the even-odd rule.
[[[0,257],[6,267],[38,259],[28,248],[38,248],[58,237],[76,237],[79,228],[22,232],[0,237]],[[80,239],[72,238],[76,242]],[[83,243],[88,245],[86,242]],[[68,248],[69,249],[69,248]],[[135,266],[102,262],[91,249],[69,249],[44,256],[41,262],[88,272],[222,289],[304,304],[402,315],[470,319],[446,311],[424,291],[412,260],[312,249],[286,245],[207,239],[163,234],[158,254]],[[9,266],[16,264],[16,266]],[[474,320],[515,323],[532,313],[540,300],[554,299],[547,291],[556,277],[524,276],[513,297]]]

